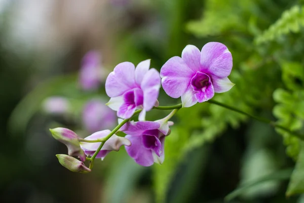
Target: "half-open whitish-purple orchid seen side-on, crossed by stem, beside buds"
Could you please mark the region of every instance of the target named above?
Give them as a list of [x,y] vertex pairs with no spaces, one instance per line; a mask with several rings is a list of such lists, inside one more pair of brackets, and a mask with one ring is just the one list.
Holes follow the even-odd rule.
[[[97,140],[106,137],[111,131],[110,130],[102,130],[91,134],[91,136],[85,138],[85,140]],[[98,149],[99,143],[85,143],[80,142],[80,147],[84,150],[87,156],[93,156],[93,154]],[[131,146],[131,142],[123,137],[118,137],[116,134],[113,134],[102,146],[101,150],[98,152],[96,158],[104,159],[104,157],[110,151],[119,151],[122,145]]]

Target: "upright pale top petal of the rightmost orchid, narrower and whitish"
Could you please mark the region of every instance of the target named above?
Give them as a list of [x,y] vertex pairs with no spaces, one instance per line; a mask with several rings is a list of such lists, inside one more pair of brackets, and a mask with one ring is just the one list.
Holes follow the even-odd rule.
[[186,62],[188,67],[194,72],[200,71],[201,69],[201,52],[194,45],[187,45],[181,53],[181,58]]

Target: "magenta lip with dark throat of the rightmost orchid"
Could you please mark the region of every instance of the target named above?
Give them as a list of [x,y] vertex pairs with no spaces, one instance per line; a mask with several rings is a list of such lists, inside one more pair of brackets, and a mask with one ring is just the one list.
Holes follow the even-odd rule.
[[205,73],[197,72],[191,79],[191,86],[194,91],[197,91],[195,98],[199,103],[207,101],[214,96],[212,81]]

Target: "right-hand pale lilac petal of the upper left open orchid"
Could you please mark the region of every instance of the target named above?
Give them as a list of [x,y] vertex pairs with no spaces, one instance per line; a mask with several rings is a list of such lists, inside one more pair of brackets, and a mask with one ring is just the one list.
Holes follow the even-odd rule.
[[161,87],[160,74],[155,69],[150,69],[143,77],[141,83],[141,89],[143,91],[143,109],[146,111],[151,110],[159,95],[159,90]]

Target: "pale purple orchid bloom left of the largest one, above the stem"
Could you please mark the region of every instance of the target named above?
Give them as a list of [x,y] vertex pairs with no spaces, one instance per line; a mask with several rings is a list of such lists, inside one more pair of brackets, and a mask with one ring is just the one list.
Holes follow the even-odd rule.
[[135,69],[131,62],[118,64],[105,81],[106,94],[111,97],[108,106],[117,116],[130,118],[136,109],[142,108],[139,120],[157,103],[161,78],[159,72],[150,69],[150,60],[140,62]]

